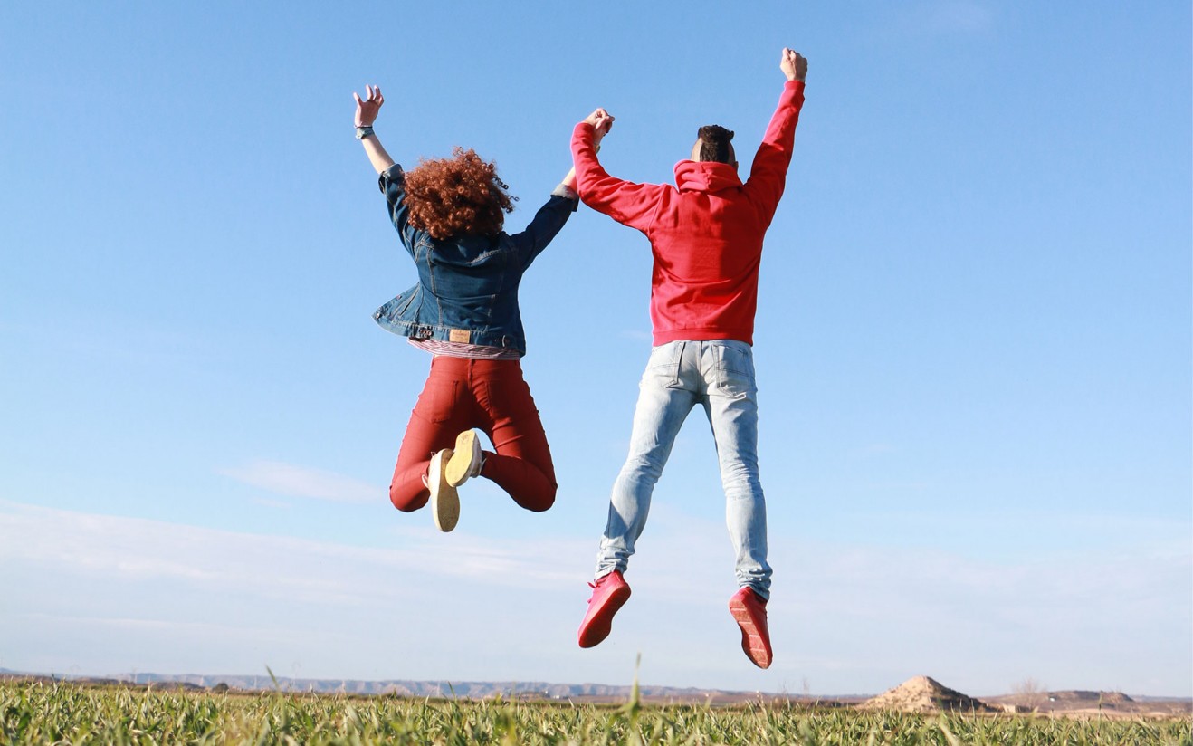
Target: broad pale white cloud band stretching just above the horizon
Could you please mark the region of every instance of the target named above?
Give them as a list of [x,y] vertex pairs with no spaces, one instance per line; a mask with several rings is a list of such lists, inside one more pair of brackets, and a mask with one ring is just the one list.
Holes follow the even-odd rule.
[[653,507],[626,575],[633,597],[595,652],[574,637],[595,536],[391,537],[359,547],[0,501],[0,659],[92,673],[293,661],[329,677],[623,683],[641,651],[643,680],[657,684],[779,691],[808,677],[820,693],[877,692],[927,673],[971,693],[1028,676],[1188,693],[1187,545],[995,562],[773,535],[777,660],[759,673],[724,608],[723,524],[673,503]]

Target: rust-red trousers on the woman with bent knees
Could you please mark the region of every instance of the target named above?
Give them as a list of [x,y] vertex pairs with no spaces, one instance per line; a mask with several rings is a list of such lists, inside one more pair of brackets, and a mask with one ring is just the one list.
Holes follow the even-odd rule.
[[431,375],[410,412],[389,486],[394,507],[414,511],[426,505],[431,493],[422,475],[431,457],[452,448],[457,434],[474,427],[497,449],[484,452],[481,476],[496,482],[526,510],[551,507],[556,489],[551,449],[521,363],[447,356],[432,359]]

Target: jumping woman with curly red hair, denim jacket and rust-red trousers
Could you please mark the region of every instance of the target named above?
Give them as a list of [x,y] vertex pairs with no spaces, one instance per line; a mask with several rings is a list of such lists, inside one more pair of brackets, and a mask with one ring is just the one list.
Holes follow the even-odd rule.
[[[518,284],[575,211],[575,172],[525,230],[509,235],[502,226],[513,203],[492,161],[457,147],[450,159],[420,160],[404,172],[373,134],[385,100],[381,88],[365,86],[364,99],[352,95],[357,138],[419,272],[418,284],[373,319],[433,356],[389,499],[407,512],[429,501],[435,526],[451,531],[459,518],[457,488],[483,476],[521,507],[545,511],[555,503],[555,467],[519,362],[526,338]],[[481,449],[474,429],[488,436],[494,451]]]

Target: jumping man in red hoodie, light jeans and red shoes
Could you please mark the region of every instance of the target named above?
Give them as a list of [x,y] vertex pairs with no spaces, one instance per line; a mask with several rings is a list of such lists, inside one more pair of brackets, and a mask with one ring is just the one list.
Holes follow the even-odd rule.
[[581,201],[644,233],[654,254],[654,346],[639,384],[630,454],[610,498],[580,647],[608,636],[613,615],[630,597],[623,573],[647,523],[650,494],[684,419],[700,405],[712,425],[737,555],[740,587],[729,610],[741,627],[746,655],[761,668],[771,665],[771,566],[752,345],[762,236],[783,196],[808,61],[784,49],[779,69],[787,82],[744,183],[737,175],[734,132],[723,127],[699,129],[691,159],[675,166],[675,186],[635,184],[605,172],[596,149],[613,117],[604,109],[573,131]]

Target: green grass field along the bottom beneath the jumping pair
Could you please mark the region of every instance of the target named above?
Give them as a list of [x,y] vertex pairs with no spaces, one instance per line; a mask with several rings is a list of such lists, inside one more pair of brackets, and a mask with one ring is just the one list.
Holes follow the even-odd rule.
[[1189,745],[1191,720],[905,715],[0,685],[0,744]]

